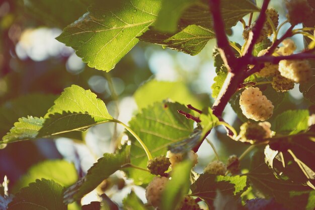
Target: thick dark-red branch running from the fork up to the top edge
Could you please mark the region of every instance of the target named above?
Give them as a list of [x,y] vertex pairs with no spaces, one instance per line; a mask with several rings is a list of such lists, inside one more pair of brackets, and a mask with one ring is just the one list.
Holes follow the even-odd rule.
[[212,14],[213,29],[216,35],[217,46],[228,71],[232,71],[236,57],[225,34],[224,22],[220,10],[220,0],[209,0],[210,13]]

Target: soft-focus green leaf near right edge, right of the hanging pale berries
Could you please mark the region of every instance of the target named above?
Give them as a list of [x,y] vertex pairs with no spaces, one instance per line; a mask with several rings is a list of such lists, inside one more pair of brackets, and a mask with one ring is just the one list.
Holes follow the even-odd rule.
[[308,128],[308,110],[287,110],[278,115],[272,130],[281,134],[296,134]]

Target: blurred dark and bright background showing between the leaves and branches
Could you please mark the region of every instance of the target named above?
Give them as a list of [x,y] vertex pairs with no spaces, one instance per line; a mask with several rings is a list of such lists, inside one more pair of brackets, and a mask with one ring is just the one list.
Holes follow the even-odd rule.
[[[35,10],[32,4],[39,4],[38,8],[43,10]],[[257,5],[261,6],[261,1],[257,1]],[[192,103],[200,109],[211,106],[211,85],[216,76],[211,56],[215,40],[210,40],[196,56],[139,42],[110,73],[105,73],[90,68],[72,48],[55,40],[62,28],[85,13],[86,5],[74,4],[73,7],[78,7],[75,10],[66,5],[56,4],[55,7],[45,8],[45,3],[35,0],[0,1],[1,136],[10,130],[19,117],[32,115],[35,109],[37,112],[42,110],[43,116],[53,105],[56,96],[72,84],[91,89],[105,102],[110,114],[124,123],[128,123],[138,112],[133,97],[136,90],[143,85],[154,85],[155,81],[169,85],[170,91],[161,96],[165,99]],[[282,1],[271,1],[270,7],[279,12],[280,23],[285,20]],[[74,14],[80,10],[81,13]],[[42,13],[49,13],[52,18],[44,19]],[[59,15],[63,13],[66,15]],[[248,17],[244,19],[248,22]],[[283,27],[281,32],[288,27]],[[242,32],[243,27],[239,23],[232,28],[230,39],[242,45]],[[302,37],[296,35],[294,40],[298,45],[297,51],[301,50]],[[162,83],[155,84],[156,87],[159,84]],[[150,101],[161,100],[161,97],[154,99],[159,89],[155,88],[155,91],[149,94]],[[188,98],[191,101],[187,101]],[[281,111],[308,106],[298,87],[295,87],[281,104]],[[223,118],[239,130],[242,122],[230,105],[226,107]],[[38,139],[10,144],[5,150],[0,150],[0,180],[7,175],[9,188],[13,187],[31,166],[47,159],[65,159],[74,163],[78,176],[82,177],[103,153],[115,151],[114,140],[123,138],[123,132],[122,127],[107,123],[90,128],[85,133],[84,142],[81,141],[82,136],[78,136],[78,139]],[[216,129],[208,138],[222,160],[232,154],[242,154],[247,147],[229,139],[224,129]],[[202,167],[215,156],[206,142],[198,155],[199,163],[195,169],[202,172]],[[248,159],[244,159],[242,164],[248,165]],[[121,197],[113,199],[119,202]]]

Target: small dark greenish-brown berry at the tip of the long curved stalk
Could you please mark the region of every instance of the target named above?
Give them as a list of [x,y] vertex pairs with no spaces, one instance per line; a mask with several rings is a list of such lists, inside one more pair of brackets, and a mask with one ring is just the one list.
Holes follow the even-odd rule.
[[164,172],[168,170],[170,165],[170,159],[162,155],[149,160],[147,163],[147,169],[149,169],[151,174],[163,176]]

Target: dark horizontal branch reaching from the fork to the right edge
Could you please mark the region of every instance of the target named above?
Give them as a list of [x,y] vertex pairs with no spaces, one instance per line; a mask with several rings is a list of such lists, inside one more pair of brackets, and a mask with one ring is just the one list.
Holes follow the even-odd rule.
[[286,56],[264,55],[260,57],[251,57],[249,59],[249,64],[258,64],[258,63],[265,63],[265,62],[271,62],[271,63],[277,64],[280,62],[280,60],[299,60],[299,59],[301,60],[315,59],[315,54],[310,53],[310,50],[309,50],[308,52],[301,52],[301,53],[286,55]]

